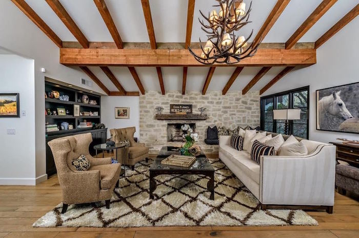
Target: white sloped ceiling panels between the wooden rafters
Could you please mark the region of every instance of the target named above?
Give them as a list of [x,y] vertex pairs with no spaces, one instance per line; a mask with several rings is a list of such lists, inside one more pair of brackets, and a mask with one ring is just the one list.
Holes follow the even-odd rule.
[[[26,0],[26,2],[61,40],[76,41],[45,1]],[[60,2],[88,41],[113,42],[104,20],[92,0],[60,0]],[[141,0],[105,0],[105,2],[124,42],[149,42]],[[250,1],[245,2],[248,7]],[[249,18],[252,23],[241,29],[241,35],[248,36],[253,29],[250,41],[253,40],[276,2],[277,0],[253,0]],[[286,42],[321,2],[322,0],[291,0],[263,42]],[[358,0],[337,1],[299,42],[316,41],[358,3]],[[199,11],[208,14],[214,4],[216,4],[214,0],[195,0],[192,42],[198,42],[199,38],[202,41],[206,40],[206,34],[201,30],[201,25],[198,22],[198,17],[201,17]],[[188,1],[186,0],[150,0],[157,42],[185,42],[187,5]],[[99,67],[89,68],[110,91],[117,91],[117,88]],[[109,68],[126,91],[138,91],[127,67]],[[186,90],[202,91],[208,69],[208,67],[189,67]],[[235,67],[217,67],[208,90],[222,90],[234,69]],[[260,67],[245,67],[229,90],[242,90],[260,69]],[[284,67],[272,67],[251,90],[261,89],[283,69]],[[145,90],[161,90],[154,67],[136,67],[136,71]],[[182,89],[182,67],[162,67],[162,73],[166,91]]]

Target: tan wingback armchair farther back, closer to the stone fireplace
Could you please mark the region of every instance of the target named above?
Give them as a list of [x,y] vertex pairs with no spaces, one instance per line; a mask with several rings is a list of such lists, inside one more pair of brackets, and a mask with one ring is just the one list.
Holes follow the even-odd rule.
[[[133,134],[135,133],[135,127],[121,128],[121,129],[111,129],[110,134],[111,138],[118,143],[125,139],[130,140],[130,147],[125,147],[123,150],[115,150],[114,158],[118,158],[119,162],[126,165],[131,165],[131,170],[134,170],[134,165],[136,162],[146,159],[148,161],[148,152],[149,148],[145,147],[144,143],[138,143],[134,140]],[[116,157],[118,153],[118,157]]]

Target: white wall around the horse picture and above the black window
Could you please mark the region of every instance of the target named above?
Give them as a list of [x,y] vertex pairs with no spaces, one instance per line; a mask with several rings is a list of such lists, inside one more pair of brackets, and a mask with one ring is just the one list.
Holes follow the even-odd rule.
[[315,124],[315,90],[359,82],[358,29],[359,17],[356,17],[317,49],[316,64],[293,70],[262,95],[310,85],[310,139],[323,142],[336,138],[359,139],[359,134],[316,130]]

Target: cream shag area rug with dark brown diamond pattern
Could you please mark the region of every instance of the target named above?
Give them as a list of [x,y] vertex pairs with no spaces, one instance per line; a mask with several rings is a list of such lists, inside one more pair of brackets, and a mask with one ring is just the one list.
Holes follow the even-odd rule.
[[155,177],[155,199],[149,198],[149,167],[136,163],[114,189],[110,209],[105,202],[62,204],[37,220],[34,227],[142,227],[142,226],[273,226],[317,225],[303,210],[261,210],[258,200],[221,160],[210,159],[215,169],[214,201],[208,178],[197,175]]

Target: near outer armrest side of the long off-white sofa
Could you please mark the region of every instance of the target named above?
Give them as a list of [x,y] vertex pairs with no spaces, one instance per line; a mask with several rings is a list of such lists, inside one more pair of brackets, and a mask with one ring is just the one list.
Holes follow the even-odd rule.
[[260,202],[272,205],[333,205],[335,146],[319,145],[301,157],[262,156]]

